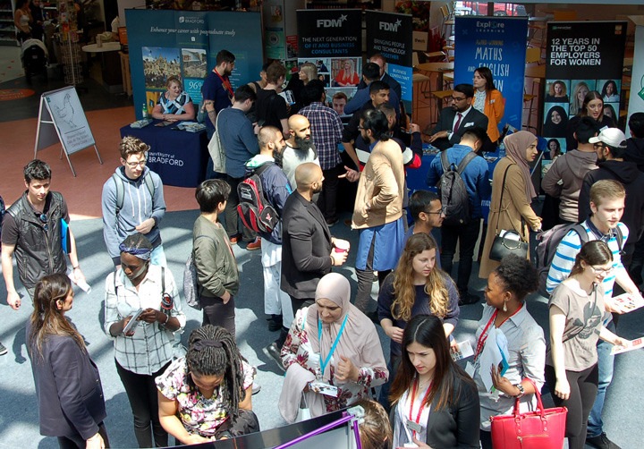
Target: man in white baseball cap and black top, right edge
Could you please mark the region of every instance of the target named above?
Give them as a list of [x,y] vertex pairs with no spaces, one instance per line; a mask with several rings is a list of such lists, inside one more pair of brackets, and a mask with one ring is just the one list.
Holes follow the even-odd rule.
[[629,228],[629,239],[623,250],[622,263],[628,270],[635,250],[635,243],[644,231],[644,174],[635,162],[624,161],[626,136],[618,128],[606,128],[597,137],[591,137],[589,143],[597,152],[597,169],[590,170],[584,176],[579,196],[579,219],[585,220],[590,215],[590,187],[601,179],[614,179],[622,183],[626,191],[623,224]]

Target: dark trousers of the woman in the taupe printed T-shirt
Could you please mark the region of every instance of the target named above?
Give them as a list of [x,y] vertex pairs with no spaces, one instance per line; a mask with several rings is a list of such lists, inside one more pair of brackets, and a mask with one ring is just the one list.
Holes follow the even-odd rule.
[[571,387],[571,394],[564,401],[555,395],[555,368],[546,365],[546,382],[552,392],[555,406],[568,408],[565,433],[565,436],[568,437],[568,447],[569,449],[584,449],[588,417],[595,403],[595,397],[597,397],[597,383],[599,381],[597,363],[579,372],[566,369],[566,378]]

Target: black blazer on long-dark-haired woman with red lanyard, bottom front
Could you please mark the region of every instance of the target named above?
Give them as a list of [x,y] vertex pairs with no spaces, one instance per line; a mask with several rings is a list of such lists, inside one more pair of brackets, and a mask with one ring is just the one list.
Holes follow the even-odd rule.
[[[463,382],[453,370],[452,375],[452,397],[458,400],[440,411],[435,410],[432,402],[425,442],[435,449],[479,449],[480,405],[477,387],[471,379]],[[389,416],[392,423],[395,422],[397,407],[392,409]]]

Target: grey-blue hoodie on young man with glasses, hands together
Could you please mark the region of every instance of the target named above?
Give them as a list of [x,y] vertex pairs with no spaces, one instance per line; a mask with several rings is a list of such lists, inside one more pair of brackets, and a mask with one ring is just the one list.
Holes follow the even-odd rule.
[[[114,261],[114,266],[120,265],[121,252],[119,245],[125,237],[136,233],[136,226],[148,218],[155,219],[152,230],[146,234],[152,246],[157,248],[161,244],[161,233],[158,224],[165,215],[165,200],[163,196],[163,182],[158,174],[145,167],[139,179],[131,180],[125,176],[124,167],[116,169],[116,176],[123,180],[123,207],[119,212],[116,223],[116,184],[110,178],[103,185],[101,205],[103,208],[103,238],[106,242],[107,252]],[[145,176],[151,176],[155,186],[155,198],[152,200],[148,186],[143,181]],[[154,204],[154,207],[153,207]]]

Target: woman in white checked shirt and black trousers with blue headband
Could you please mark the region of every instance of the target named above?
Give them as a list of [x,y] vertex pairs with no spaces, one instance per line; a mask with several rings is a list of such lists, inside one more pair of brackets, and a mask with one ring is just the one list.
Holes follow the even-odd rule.
[[[170,270],[151,265],[152,244],[142,233],[120,246],[121,268],[106,278],[105,333],[114,339],[114,359],[134,415],[140,447],[165,447],[168,435],[159,422],[155,377],[170,365],[174,332],[186,317]],[[129,327],[136,316],[135,326]]]

